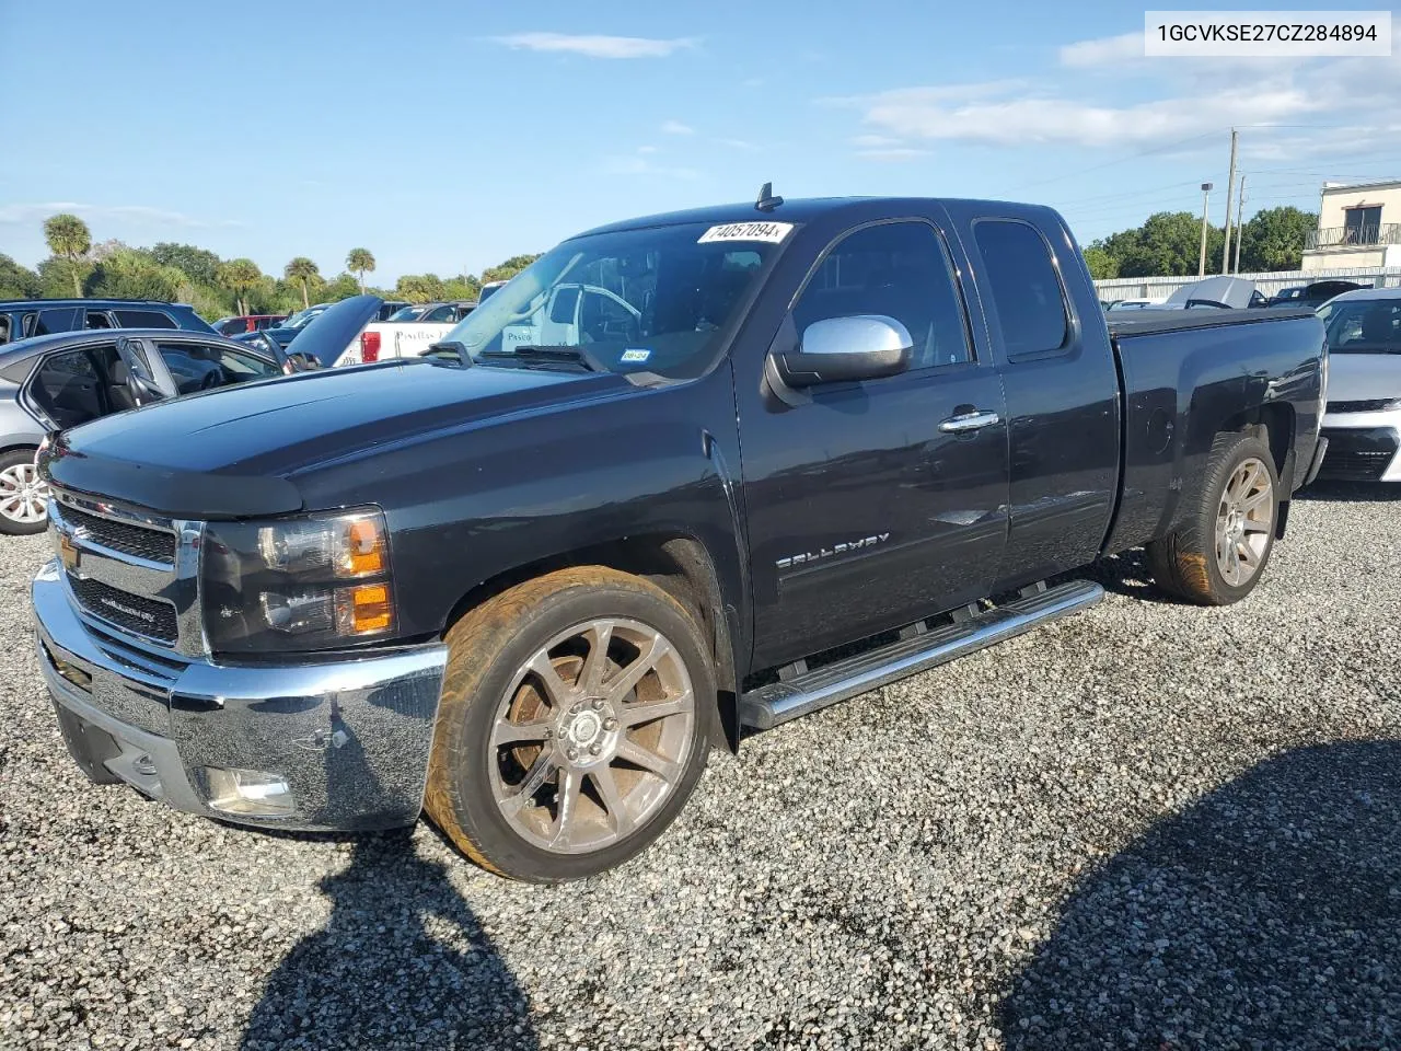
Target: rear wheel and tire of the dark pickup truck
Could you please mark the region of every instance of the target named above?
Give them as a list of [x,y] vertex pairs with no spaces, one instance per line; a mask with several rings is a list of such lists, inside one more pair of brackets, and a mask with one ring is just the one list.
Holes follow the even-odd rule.
[[[1268,492],[1265,485],[1268,483]],[[1217,434],[1184,526],[1147,545],[1159,587],[1198,605],[1230,605],[1255,590],[1279,521],[1279,475],[1254,434]]]

